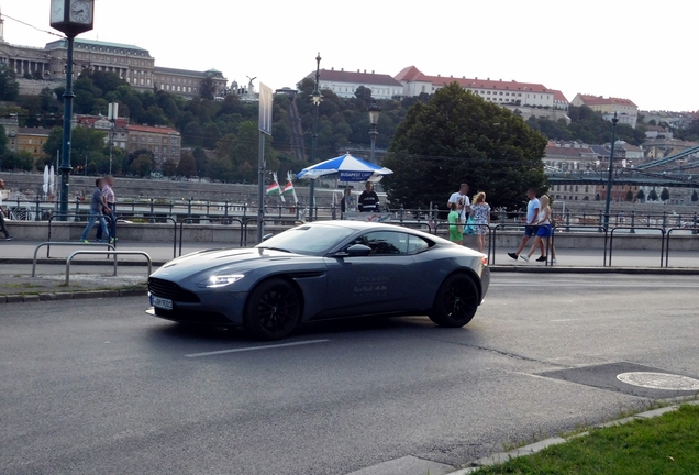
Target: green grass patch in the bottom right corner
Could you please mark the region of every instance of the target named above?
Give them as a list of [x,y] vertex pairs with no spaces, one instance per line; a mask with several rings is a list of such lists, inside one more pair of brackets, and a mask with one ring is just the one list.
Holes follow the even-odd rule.
[[685,405],[661,417],[592,429],[589,435],[473,474],[699,474],[699,406]]

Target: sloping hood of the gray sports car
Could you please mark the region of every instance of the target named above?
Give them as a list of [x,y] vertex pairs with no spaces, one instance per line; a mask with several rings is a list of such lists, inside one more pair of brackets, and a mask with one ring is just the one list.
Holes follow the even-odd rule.
[[220,268],[258,268],[267,263],[309,258],[309,256],[284,251],[259,248],[225,248],[197,251],[177,257],[153,273],[153,277],[177,280]]

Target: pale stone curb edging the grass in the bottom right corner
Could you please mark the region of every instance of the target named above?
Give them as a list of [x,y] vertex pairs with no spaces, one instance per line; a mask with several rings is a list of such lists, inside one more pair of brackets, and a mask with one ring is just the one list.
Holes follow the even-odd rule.
[[[697,406],[699,405],[699,400],[690,400],[690,401],[686,401],[683,402],[681,405],[691,405],[691,406]],[[681,406],[680,404],[676,404],[676,405],[672,405],[672,406],[666,406],[659,409],[653,409],[653,410],[648,410],[645,412],[640,412],[637,415],[631,416],[631,417],[626,417],[623,419],[618,419],[618,420],[613,420],[613,421],[609,421],[609,422],[603,422],[603,423],[599,423],[596,426],[592,426],[590,429],[603,429],[607,427],[613,427],[613,426],[622,426],[629,422],[632,422],[634,420],[639,420],[639,419],[651,419],[651,418],[655,418],[655,417],[659,417],[663,416],[664,413],[667,412],[673,412],[676,411],[677,409],[679,409],[679,406]],[[574,434],[567,438],[561,438],[561,437],[554,437],[554,438],[550,438],[550,439],[544,439],[542,441],[539,442],[534,442],[532,444],[529,445],[524,445],[521,446],[519,449],[514,449],[508,452],[500,452],[500,453],[496,453],[493,455],[487,456],[487,457],[482,457],[482,459],[478,459],[475,462],[471,462],[469,465],[469,467],[467,468],[461,468],[456,472],[450,472],[445,475],[466,475],[473,472],[476,472],[477,470],[480,470],[482,467],[487,467],[490,465],[497,465],[503,462],[509,461],[510,459],[517,459],[519,456],[524,456],[524,455],[531,455],[534,454],[541,450],[546,449],[547,446],[551,445],[557,445],[557,444],[562,444],[562,443],[566,443],[569,440],[579,438],[579,437],[585,437],[587,435],[588,432],[581,432],[578,434]]]

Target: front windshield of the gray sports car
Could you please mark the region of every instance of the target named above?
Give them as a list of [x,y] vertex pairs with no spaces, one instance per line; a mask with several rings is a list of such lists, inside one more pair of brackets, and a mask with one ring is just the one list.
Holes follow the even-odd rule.
[[297,254],[322,255],[340,241],[353,234],[348,228],[300,225],[257,244],[257,248],[277,248]]

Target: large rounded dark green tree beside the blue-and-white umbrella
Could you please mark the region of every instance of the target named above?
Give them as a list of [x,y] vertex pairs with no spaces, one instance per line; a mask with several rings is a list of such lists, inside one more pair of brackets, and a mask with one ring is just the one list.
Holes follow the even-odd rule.
[[546,190],[545,147],[521,118],[454,82],[408,110],[384,159],[393,170],[385,189],[393,205],[424,208],[466,181],[493,208],[519,209],[528,188]]

